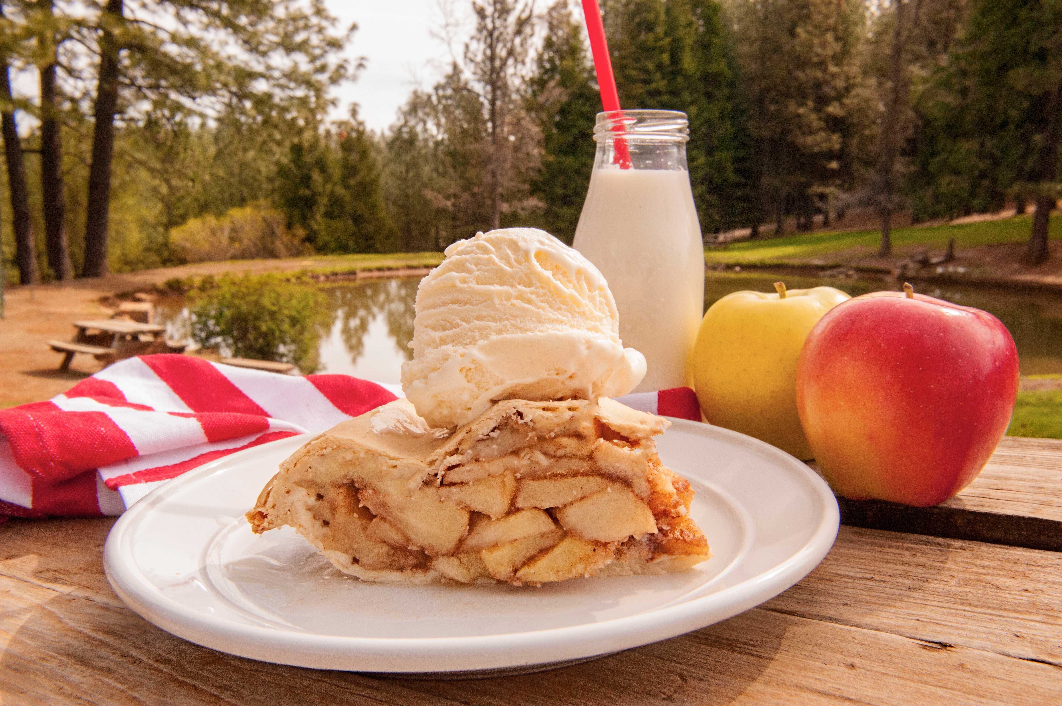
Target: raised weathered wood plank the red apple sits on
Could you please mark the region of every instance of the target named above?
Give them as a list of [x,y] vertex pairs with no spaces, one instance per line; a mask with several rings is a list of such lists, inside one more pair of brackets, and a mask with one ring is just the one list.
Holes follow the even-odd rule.
[[974,482],[936,507],[837,502],[852,527],[1062,551],[1062,440],[1004,437]]

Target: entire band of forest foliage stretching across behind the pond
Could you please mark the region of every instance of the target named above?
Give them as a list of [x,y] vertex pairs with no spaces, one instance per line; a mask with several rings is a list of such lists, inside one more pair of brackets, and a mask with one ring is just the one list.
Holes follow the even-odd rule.
[[[0,48],[15,71],[35,71],[58,52],[65,225],[80,271],[102,4],[74,13],[57,3],[52,15],[47,4],[7,3]],[[328,120],[327,89],[356,74],[358,61],[341,58],[350,34],[337,31],[322,0],[166,0],[152,4],[150,21],[126,17],[116,28],[124,48],[109,269],[294,252],[271,249],[268,238],[252,237],[257,244],[249,249],[218,239],[233,209],[255,204],[282,212],[288,228],[319,253],[442,249],[490,227],[496,189],[502,225],[536,225],[570,241],[600,109],[576,4],[553,2],[536,24],[538,44],[517,32],[526,3],[457,4],[470,8],[481,29],[504,18],[497,36],[514,37],[504,47],[513,54],[504,75],[491,68],[500,66],[489,51],[494,45],[477,32],[466,46],[451,47],[458,61],[436,85],[414,91],[379,136],[356,115]],[[879,104],[891,85],[892,0],[602,6],[623,105],[689,116],[687,157],[702,230],[755,225],[772,211],[802,213],[806,225],[809,213],[839,204],[838,196],[869,203],[870,170],[884,152]],[[1046,163],[1047,99],[1062,90],[1062,3],[919,6],[902,82],[910,100],[901,103],[912,109],[898,118],[894,170],[915,219],[1059,193],[1060,179],[1046,176],[1048,167],[1057,174],[1059,161],[1056,150],[1056,163]],[[500,113],[492,114],[492,101]],[[22,115],[41,110],[17,96],[8,107],[31,131],[23,139],[29,202],[47,280],[40,137]],[[0,189],[6,178],[0,170]],[[192,253],[188,242],[203,238],[211,244]],[[0,209],[0,240],[8,281],[17,282],[10,208]]]

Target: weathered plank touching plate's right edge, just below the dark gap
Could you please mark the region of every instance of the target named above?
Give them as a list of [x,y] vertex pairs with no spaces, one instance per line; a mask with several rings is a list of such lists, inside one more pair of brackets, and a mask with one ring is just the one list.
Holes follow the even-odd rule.
[[764,607],[1062,670],[1062,554],[841,528],[825,561]]

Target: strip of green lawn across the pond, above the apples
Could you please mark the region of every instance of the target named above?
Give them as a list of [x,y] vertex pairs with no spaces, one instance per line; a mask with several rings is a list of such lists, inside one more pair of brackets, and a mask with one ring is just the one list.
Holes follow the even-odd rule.
[[[904,253],[919,247],[943,249],[950,238],[955,238],[955,246],[960,249],[1024,242],[1029,239],[1031,226],[1031,217],[1023,216],[961,225],[897,228],[892,231],[892,245],[895,253]],[[707,251],[704,259],[709,263],[777,264],[823,260],[828,264],[840,264],[857,258],[875,257],[880,237],[879,230],[854,230],[744,240],[732,243],[726,249]],[[1062,217],[1051,219],[1050,237],[1062,239]]]

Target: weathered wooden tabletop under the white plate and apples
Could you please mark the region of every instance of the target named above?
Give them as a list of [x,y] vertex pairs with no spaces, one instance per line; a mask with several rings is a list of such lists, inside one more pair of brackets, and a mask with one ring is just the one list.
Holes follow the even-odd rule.
[[740,616],[575,667],[475,681],[200,648],[110,590],[101,552],[114,520],[13,519],[0,526],[0,702],[1062,704],[1062,441],[1005,438],[941,507],[844,502],[842,517],[866,527],[842,527],[804,581]]

